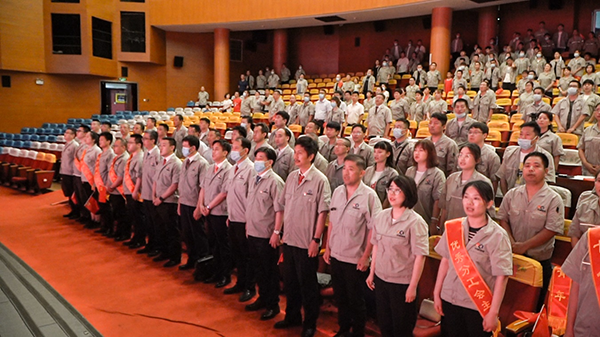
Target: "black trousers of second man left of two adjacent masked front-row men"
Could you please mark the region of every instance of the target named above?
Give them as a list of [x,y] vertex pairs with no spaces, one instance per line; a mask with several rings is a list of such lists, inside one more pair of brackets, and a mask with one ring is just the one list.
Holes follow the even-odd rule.
[[188,263],[196,263],[200,258],[208,255],[208,238],[204,231],[204,217],[194,219],[196,207],[179,205],[181,223],[181,236],[187,247]]

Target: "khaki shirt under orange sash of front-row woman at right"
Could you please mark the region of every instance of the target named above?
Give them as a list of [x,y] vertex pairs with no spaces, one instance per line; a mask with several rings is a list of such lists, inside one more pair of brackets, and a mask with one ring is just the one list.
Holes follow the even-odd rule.
[[[508,234],[504,228],[488,217],[487,225],[483,226],[471,240],[468,240],[469,223],[466,218],[463,220],[462,225],[467,253],[493,294],[496,277],[511,276],[513,274],[513,257]],[[465,287],[458,278],[456,269],[454,269],[448,249],[446,232],[435,246],[435,251],[449,260],[448,273],[442,285],[442,299],[454,305],[477,311],[475,303],[471,301],[469,294],[467,294]]]

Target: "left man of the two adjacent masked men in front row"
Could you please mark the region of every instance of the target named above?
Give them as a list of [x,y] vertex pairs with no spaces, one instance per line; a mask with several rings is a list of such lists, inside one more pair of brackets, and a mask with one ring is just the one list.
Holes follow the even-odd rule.
[[241,293],[240,302],[246,302],[256,295],[254,269],[250,265],[248,239],[246,237],[246,205],[254,196],[248,194],[250,184],[255,182],[254,164],[248,159],[252,144],[244,137],[233,140],[231,159],[235,165],[227,172],[224,189],[227,191],[227,213],[229,238],[233,260],[237,268],[235,286],[225,289],[224,294]]

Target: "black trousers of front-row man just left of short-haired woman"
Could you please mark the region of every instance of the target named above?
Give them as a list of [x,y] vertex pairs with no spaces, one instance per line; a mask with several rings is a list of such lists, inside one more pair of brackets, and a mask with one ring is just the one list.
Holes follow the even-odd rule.
[[331,282],[338,307],[338,324],[341,332],[364,336],[367,321],[365,280],[368,272],[356,269],[356,264],[331,258]]

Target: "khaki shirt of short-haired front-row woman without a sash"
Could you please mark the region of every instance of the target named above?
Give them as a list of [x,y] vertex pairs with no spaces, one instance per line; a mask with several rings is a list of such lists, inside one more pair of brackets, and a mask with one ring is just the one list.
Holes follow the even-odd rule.
[[371,243],[377,246],[375,274],[386,282],[410,284],[416,256],[429,254],[429,226],[412,209],[394,220],[387,208],[371,223]]

